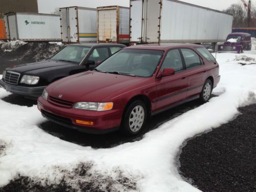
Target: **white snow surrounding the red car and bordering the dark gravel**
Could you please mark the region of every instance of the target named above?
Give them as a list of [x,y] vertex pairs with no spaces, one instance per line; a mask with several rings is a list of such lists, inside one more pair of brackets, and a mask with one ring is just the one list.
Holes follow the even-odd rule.
[[[140,141],[113,148],[95,150],[54,137],[38,127],[46,119],[36,105],[19,106],[0,99],[0,145],[5,145],[4,153],[0,151],[0,187],[18,173],[42,183],[59,183],[66,175],[74,188],[86,180],[102,184],[103,190],[109,181],[116,181],[111,191],[199,191],[179,175],[177,154],[187,139],[227,123],[239,114],[240,106],[256,99],[256,65],[240,65],[238,55],[217,54],[221,81],[213,94],[218,97],[167,121]],[[255,57],[256,51],[244,55]],[[0,89],[0,98],[9,94]],[[74,174],[81,163],[90,167],[87,177]],[[137,188],[125,188],[117,182],[120,177],[128,178],[130,185],[137,183]]]

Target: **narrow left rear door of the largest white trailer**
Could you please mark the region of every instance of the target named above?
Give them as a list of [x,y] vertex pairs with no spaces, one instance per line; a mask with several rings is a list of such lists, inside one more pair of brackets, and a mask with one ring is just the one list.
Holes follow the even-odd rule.
[[140,42],[143,38],[143,2],[142,0],[131,1],[130,5],[130,41]]

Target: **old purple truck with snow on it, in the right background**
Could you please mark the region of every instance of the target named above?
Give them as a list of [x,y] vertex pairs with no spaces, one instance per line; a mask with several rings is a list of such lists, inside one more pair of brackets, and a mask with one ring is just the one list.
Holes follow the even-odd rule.
[[243,53],[244,50],[251,50],[249,33],[230,33],[224,44],[218,46],[218,52]]

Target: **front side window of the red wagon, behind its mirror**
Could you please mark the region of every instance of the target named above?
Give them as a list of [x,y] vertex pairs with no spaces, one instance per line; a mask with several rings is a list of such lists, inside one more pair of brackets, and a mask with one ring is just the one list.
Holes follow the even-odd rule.
[[165,68],[172,68],[176,73],[183,70],[182,59],[178,49],[169,51],[166,54],[161,71]]

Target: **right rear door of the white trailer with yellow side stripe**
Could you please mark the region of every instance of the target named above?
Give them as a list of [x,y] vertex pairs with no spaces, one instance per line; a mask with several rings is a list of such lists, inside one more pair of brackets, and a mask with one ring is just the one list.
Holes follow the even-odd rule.
[[70,42],[78,42],[78,22],[77,22],[77,8],[71,7],[69,9],[69,38]]

